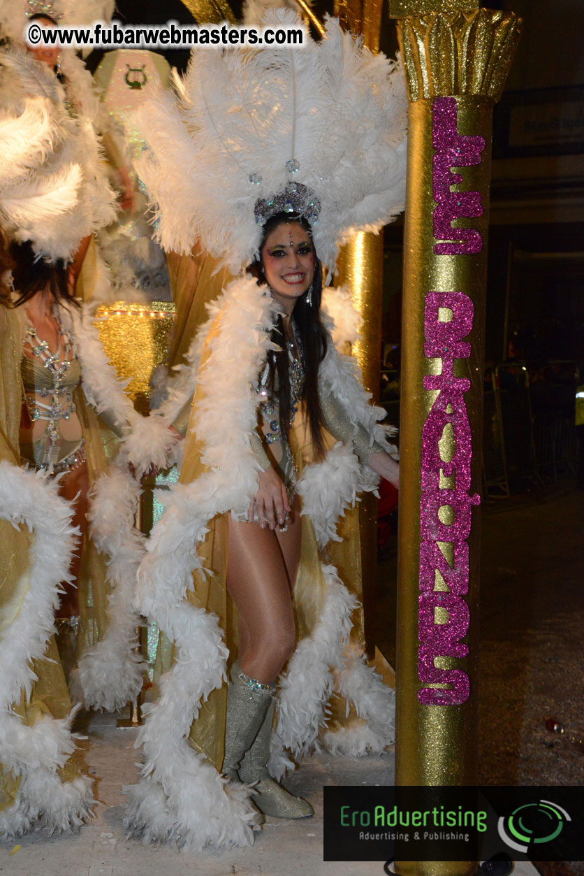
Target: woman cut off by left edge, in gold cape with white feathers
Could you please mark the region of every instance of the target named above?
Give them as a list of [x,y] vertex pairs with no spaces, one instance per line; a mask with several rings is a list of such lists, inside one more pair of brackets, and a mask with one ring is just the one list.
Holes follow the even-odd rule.
[[52,222],[76,199],[79,168],[55,167],[31,191],[52,134],[42,99],[0,111],[0,837],[78,828],[94,805],[70,730],[71,701],[53,637],[76,530],[58,485],[19,467],[20,326],[4,272],[14,266],[1,226]]

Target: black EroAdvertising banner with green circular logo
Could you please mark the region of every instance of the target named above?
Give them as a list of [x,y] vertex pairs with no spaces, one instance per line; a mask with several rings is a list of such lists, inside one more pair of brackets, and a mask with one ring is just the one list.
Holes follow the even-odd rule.
[[327,861],[584,859],[584,788],[324,788]]

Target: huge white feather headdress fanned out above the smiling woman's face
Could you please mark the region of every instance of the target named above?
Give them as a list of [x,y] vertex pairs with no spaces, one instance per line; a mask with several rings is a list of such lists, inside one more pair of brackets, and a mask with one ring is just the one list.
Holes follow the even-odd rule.
[[[283,9],[264,24],[301,26]],[[137,171],[166,250],[189,252],[201,239],[239,271],[262,238],[257,200],[292,181],[320,201],[313,240],[332,268],[345,237],[377,230],[404,208],[403,77],[336,20],[302,48],[195,50],[177,91],[154,95],[134,118],[149,146]],[[286,169],[292,159],[295,173]]]

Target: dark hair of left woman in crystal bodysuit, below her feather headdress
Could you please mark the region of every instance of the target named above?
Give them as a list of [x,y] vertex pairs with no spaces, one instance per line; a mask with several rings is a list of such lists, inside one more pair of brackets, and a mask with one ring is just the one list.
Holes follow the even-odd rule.
[[60,304],[80,306],[69,292],[67,265],[62,259],[46,262],[43,258],[37,258],[29,240],[24,244],[12,243],[10,255],[14,263],[12,285],[18,292],[15,307],[25,304],[38,292],[50,293]]

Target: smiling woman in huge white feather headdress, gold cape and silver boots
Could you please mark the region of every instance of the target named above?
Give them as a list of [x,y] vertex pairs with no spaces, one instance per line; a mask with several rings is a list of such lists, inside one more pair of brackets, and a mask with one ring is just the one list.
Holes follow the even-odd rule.
[[[264,23],[299,24],[290,11]],[[250,844],[258,810],[311,815],[276,780],[317,744],[335,683],[366,723],[326,734],[334,750],[391,742],[392,691],[348,648],[355,597],[330,546],[356,494],[397,483],[398,466],[384,412],[334,349],[355,314],[322,267],[403,208],[405,114],[399,71],[334,21],[301,50],[195,52],[178,96],[139,113],[162,244],[248,265],[160,412],[170,422],[194,392],[139,572],[140,611],[172,641],[126,816],[146,841]]]

